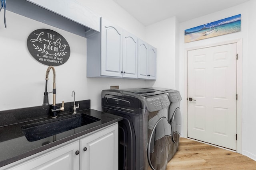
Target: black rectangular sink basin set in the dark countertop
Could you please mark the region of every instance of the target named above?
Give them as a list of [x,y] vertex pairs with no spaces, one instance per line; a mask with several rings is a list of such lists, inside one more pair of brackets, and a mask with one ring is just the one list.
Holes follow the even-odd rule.
[[88,125],[96,121],[100,121],[100,119],[84,113],[77,113],[74,115],[57,117],[46,121],[24,125],[21,129],[27,140],[32,142],[75,129],[77,127]]

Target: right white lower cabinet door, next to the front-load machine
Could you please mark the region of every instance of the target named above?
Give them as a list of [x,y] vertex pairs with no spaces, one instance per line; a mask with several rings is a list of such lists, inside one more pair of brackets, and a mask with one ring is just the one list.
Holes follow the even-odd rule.
[[81,139],[80,146],[82,170],[118,170],[118,124]]

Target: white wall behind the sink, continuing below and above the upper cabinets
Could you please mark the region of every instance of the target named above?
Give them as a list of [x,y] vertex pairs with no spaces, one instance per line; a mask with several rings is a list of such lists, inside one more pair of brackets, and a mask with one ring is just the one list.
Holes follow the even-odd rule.
[[[145,39],[145,27],[112,0],[80,0],[94,12],[120,25],[141,39]],[[3,18],[3,12],[0,13]],[[56,103],[71,102],[72,90],[76,100],[91,99],[91,108],[101,110],[101,90],[118,85],[119,88],[152,86],[150,80],[127,80],[114,78],[86,78],[86,38],[6,11],[7,29],[0,23],[0,111],[42,105],[45,74],[48,66],[36,61],[29,53],[28,35],[40,28],[60,33],[70,45],[70,58],[55,66]],[[2,20],[1,20],[2,21]],[[51,72],[48,91],[52,89]],[[52,104],[52,95],[49,94]]]

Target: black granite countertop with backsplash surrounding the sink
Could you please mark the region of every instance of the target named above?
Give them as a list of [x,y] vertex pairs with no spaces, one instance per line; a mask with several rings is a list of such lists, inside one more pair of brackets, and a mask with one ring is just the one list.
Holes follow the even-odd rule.
[[[77,113],[91,115],[100,120],[32,142],[26,139],[22,132],[22,126],[54,119],[48,115],[49,106],[0,111],[0,167],[122,120],[120,116],[90,109],[90,100],[78,101],[77,103],[80,103]],[[65,104],[66,107],[64,107],[67,108],[67,111],[62,112],[58,117],[73,115],[72,102]]]

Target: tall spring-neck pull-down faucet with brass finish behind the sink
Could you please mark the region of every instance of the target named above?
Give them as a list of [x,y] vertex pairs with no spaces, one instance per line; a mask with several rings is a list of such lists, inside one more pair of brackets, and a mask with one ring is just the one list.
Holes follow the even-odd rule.
[[[45,75],[45,92],[44,92],[44,101],[43,101],[43,104],[42,106],[48,106],[49,105],[49,102],[48,102],[48,92],[47,92],[47,81],[48,81],[48,77],[49,77],[49,72],[50,70],[52,69],[52,72],[53,72],[53,88],[52,88],[52,97],[53,97],[53,104],[52,104],[52,114],[51,116],[52,117],[57,117],[57,111],[63,111],[64,110],[64,101],[62,101],[62,107],[60,107],[59,109],[57,108],[57,105],[56,105],[56,85],[55,85],[55,77],[56,77],[56,74],[55,74],[55,69],[53,66],[49,66],[46,70],[46,75]],[[51,93],[51,92],[49,92]]]

